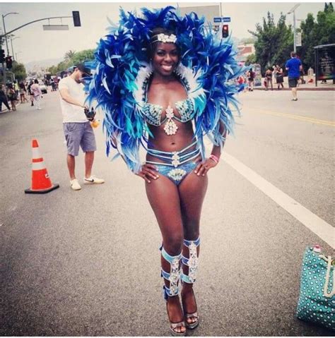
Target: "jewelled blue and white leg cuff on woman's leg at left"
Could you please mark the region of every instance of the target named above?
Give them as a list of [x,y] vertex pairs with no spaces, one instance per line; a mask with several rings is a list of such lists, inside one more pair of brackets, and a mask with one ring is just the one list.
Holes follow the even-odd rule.
[[177,296],[179,294],[179,280],[180,280],[180,260],[182,259],[182,254],[180,253],[177,256],[169,255],[163,246],[160,248],[162,251],[163,258],[170,263],[170,273],[162,269],[161,276],[170,282],[170,287],[166,285],[163,286],[164,296],[167,299],[167,296]]

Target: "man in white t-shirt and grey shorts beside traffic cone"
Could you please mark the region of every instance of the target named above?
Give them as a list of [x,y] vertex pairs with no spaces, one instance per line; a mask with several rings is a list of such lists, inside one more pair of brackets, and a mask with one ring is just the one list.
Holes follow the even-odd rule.
[[70,186],[73,190],[80,190],[81,186],[76,179],[75,157],[78,156],[79,146],[85,152],[85,177],[86,184],[104,183],[92,175],[94,152],[96,150],[95,135],[93,128],[88,121],[84,109],[85,92],[83,78],[90,74],[90,69],[83,64],[74,68],[71,76],[59,81],[59,95],[61,101],[61,112],[63,114],[63,128],[67,146],[67,166],[70,174]]

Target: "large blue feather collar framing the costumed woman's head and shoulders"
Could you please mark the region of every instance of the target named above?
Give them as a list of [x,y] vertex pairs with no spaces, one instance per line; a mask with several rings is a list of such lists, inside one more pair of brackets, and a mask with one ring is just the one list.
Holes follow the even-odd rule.
[[[238,66],[230,40],[221,40],[204,27],[196,13],[184,17],[175,8],[142,8],[142,16],[120,9],[119,25],[111,25],[95,51],[95,74],[88,79],[88,104],[97,102],[105,112],[103,128],[107,136],[107,155],[117,148],[132,171],[141,169],[139,147],[147,142],[150,131],[143,117],[143,83],[150,75],[148,50],[154,28],[174,30],[181,52],[179,76],[189,85],[194,102],[195,136],[204,157],[203,136],[214,145],[224,141],[219,129],[223,123],[233,132],[234,95],[242,87],[234,79],[243,73]],[[144,71],[144,72],[143,72]]]

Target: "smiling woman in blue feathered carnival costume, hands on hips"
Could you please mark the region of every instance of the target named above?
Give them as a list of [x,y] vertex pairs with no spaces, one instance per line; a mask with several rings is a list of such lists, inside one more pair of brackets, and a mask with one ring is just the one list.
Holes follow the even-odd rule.
[[[199,325],[193,291],[199,262],[199,222],[208,185],[227,133],[242,73],[232,43],[204,27],[196,13],[175,8],[142,16],[120,10],[119,26],[95,52],[88,102],[105,112],[107,155],[114,147],[146,194],[163,236],[161,276],[170,330],[184,336]],[[205,157],[203,137],[213,149]],[[139,147],[146,148],[141,165]],[[181,292],[180,292],[181,289]],[[180,303],[180,296],[181,301]]]

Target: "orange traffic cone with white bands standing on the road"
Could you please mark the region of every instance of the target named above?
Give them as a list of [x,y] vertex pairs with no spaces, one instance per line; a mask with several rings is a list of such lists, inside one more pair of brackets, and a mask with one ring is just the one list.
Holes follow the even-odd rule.
[[59,184],[52,184],[43,157],[40,155],[37,140],[33,140],[33,173],[31,188],[25,189],[25,193],[49,193],[59,188]]

